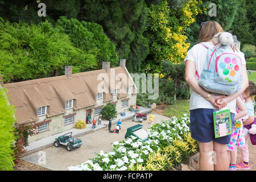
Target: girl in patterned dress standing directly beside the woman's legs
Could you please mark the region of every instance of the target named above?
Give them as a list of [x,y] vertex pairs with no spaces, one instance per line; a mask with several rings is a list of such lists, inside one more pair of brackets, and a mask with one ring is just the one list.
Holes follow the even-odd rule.
[[228,155],[230,158],[230,164],[228,171],[236,171],[236,160],[237,160],[237,147],[245,147],[245,132],[243,131],[242,117],[245,117],[247,110],[244,104],[245,100],[242,97],[237,97],[235,115],[236,124],[232,129],[232,135],[228,144]]

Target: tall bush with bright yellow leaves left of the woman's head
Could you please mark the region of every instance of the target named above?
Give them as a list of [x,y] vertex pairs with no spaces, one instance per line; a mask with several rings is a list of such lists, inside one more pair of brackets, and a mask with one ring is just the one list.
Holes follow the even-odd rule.
[[[151,5],[148,13],[148,31],[152,38],[150,54],[154,60],[148,61],[148,64],[160,65],[162,60],[171,60],[172,63],[183,61],[190,46],[186,43],[185,30],[195,22],[196,15],[203,12],[200,10],[201,4],[201,0],[190,0],[176,9],[171,9],[167,1]],[[161,70],[152,69],[152,72]]]

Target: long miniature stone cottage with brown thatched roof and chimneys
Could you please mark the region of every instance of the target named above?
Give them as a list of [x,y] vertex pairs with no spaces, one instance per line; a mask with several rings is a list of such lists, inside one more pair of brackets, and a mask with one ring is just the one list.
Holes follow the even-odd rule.
[[109,102],[118,113],[136,105],[137,87],[125,62],[120,60],[115,68],[103,62],[102,69],[76,74],[69,66],[63,76],[3,84],[9,90],[10,104],[16,107],[18,124],[44,121],[28,142],[70,130],[79,120],[87,123],[89,113],[98,118]]

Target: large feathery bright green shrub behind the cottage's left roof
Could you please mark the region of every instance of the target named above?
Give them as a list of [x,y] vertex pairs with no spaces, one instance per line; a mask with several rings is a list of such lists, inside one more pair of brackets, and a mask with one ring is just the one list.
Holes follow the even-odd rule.
[[64,75],[96,67],[96,53],[73,46],[69,36],[49,22],[10,23],[0,18],[0,73],[4,81],[24,81]]

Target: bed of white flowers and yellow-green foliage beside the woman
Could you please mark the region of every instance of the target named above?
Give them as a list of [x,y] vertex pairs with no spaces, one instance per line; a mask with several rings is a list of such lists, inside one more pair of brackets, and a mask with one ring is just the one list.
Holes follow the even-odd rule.
[[[167,170],[174,169],[188,155],[196,152],[190,137],[189,115],[155,123],[147,129],[148,139],[142,141],[130,136],[113,142],[112,152],[100,151],[97,157],[68,170]],[[172,147],[171,147],[172,146]],[[159,160],[156,160],[159,159]]]

